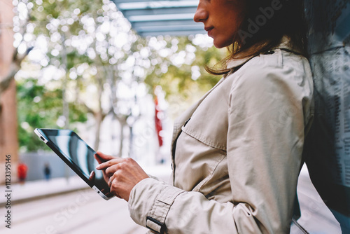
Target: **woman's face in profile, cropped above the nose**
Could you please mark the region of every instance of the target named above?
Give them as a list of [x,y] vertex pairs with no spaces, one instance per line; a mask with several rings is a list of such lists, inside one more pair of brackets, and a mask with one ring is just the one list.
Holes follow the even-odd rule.
[[243,18],[244,1],[200,0],[195,22],[202,22],[216,48],[230,46]]

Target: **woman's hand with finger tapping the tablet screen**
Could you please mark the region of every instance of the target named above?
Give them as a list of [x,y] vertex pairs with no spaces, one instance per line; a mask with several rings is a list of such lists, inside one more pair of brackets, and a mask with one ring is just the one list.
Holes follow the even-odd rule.
[[111,193],[119,198],[128,201],[132,188],[139,181],[148,178],[146,172],[132,158],[114,158],[101,152],[97,154],[107,161],[98,165],[96,169],[104,170],[106,177],[109,177]]

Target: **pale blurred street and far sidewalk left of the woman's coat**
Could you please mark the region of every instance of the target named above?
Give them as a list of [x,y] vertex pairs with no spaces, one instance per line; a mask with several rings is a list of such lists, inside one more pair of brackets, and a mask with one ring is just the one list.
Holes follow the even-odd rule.
[[[147,173],[167,181],[170,165],[144,166]],[[0,186],[2,194],[5,186]],[[1,234],[144,234],[130,218],[127,202],[104,200],[79,177],[28,181],[11,186],[11,228],[4,222],[6,199],[0,197]]]

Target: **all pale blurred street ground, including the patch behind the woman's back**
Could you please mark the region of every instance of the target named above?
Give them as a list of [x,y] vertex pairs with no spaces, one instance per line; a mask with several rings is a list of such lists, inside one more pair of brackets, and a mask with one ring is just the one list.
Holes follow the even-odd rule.
[[[146,172],[155,174],[167,180],[169,167],[151,167]],[[33,182],[34,183],[34,182]],[[36,181],[42,187],[41,191],[52,189],[59,180]],[[11,228],[0,226],[0,233],[15,234],[141,234],[146,233],[146,228],[138,226],[129,216],[127,202],[118,198],[106,201],[97,195],[91,188],[81,188],[83,184],[75,182],[78,190],[50,195],[48,197],[31,198],[14,202],[12,206]],[[339,224],[330,211],[317,195],[310,184],[307,170],[303,168],[298,185],[298,196],[302,209],[302,218],[299,223],[312,234],[337,234],[341,233]],[[45,186],[45,184],[47,186]],[[70,182],[73,186],[73,182]],[[28,186],[35,188],[29,182],[25,185],[13,186],[14,198],[20,190],[25,191]],[[53,186],[52,186],[53,185]],[[84,187],[84,186],[83,186]],[[2,189],[2,186],[1,186]],[[37,192],[37,191],[36,191]],[[57,191],[56,191],[57,192]],[[25,193],[30,193],[27,190]],[[18,196],[17,198],[20,198]],[[3,204],[3,198],[0,202]],[[0,214],[6,213],[4,205],[1,205]]]

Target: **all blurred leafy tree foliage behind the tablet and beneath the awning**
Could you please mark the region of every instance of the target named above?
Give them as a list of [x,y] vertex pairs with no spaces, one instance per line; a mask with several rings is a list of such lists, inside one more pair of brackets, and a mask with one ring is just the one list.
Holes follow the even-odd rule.
[[[128,103],[134,104],[134,100],[117,97],[120,83],[130,90],[134,83],[146,83],[153,95],[160,85],[175,117],[221,78],[207,74],[204,66],[216,64],[225,56],[224,50],[198,44],[201,39],[196,42],[197,36],[141,38],[130,30],[130,24],[111,1],[20,2],[27,6],[29,20],[14,20],[18,25],[14,28],[20,32],[21,25],[27,23],[27,32],[23,33],[30,34],[27,38],[31,41],[18,41],[18,45],[36,46],[32,52],[41,54],[36,62],[28,62],[28,72],[40,67],[40,72],[32,76],[35,78],[18,80],[20,146],[27,151],[45,149],[33,134],[34,128],[58,128],[63,115],[63,88],[71,95],[67,100],[69,123],[85,122],[86,113],[115,113],[125,119],[119,107],[131,109]],[[39,38],[45,48],[36,43]],[[57,71],[57,76],[43,78],[45,69]],[[42,79],[50,81],[41,85]]]

